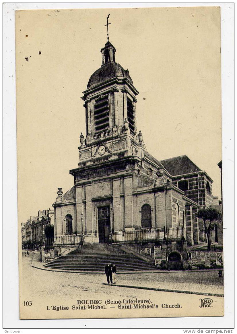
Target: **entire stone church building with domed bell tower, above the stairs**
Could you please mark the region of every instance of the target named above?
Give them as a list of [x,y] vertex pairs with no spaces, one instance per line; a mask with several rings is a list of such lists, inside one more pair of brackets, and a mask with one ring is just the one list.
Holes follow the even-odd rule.
[[83,92],[86,133],[74,186],[52,204],[54,243],[204,242],[196,212],[212,204],[213,181],[186,155],[159,161],[145,150],[139,92],[115,52],[108,41]]

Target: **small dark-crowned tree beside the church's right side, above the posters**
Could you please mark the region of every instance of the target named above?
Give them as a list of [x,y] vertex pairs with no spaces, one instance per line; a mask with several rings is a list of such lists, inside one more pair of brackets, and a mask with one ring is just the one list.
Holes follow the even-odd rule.
[[211,228],[214,223],[222,220],[222,214],[215,208],[202,208],[197,211],[197,217],[203,220],[204,231],[207,235],[207,249],[211,250]]

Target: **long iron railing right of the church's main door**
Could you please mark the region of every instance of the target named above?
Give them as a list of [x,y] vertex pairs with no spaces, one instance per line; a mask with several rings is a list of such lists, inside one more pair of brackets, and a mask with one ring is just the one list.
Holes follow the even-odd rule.
[[182,227],[168,227],[168,228],[142,228],[130,231],[118,231],[112,233],[112,242],[141,242],[141,241],[158,241],[181,240],[184,236]]

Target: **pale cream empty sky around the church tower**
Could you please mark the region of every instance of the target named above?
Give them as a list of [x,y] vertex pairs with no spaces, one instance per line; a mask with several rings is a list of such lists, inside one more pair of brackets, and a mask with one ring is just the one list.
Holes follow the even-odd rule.
[[[18,221],[73,186],[81,100],[109,40],[138,89],[137,129],[158,160],[186,154],[221,197],[218,7],[16,12]],[[40,51],[40,52],[39,52]],[[26,60],[28,58],[28,61]]]

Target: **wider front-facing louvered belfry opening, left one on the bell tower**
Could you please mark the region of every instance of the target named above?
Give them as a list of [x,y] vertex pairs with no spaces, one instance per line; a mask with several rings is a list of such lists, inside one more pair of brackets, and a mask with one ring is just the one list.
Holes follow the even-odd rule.
[[94,105],[95,132],[109,128],[108,96],[95,100]]

